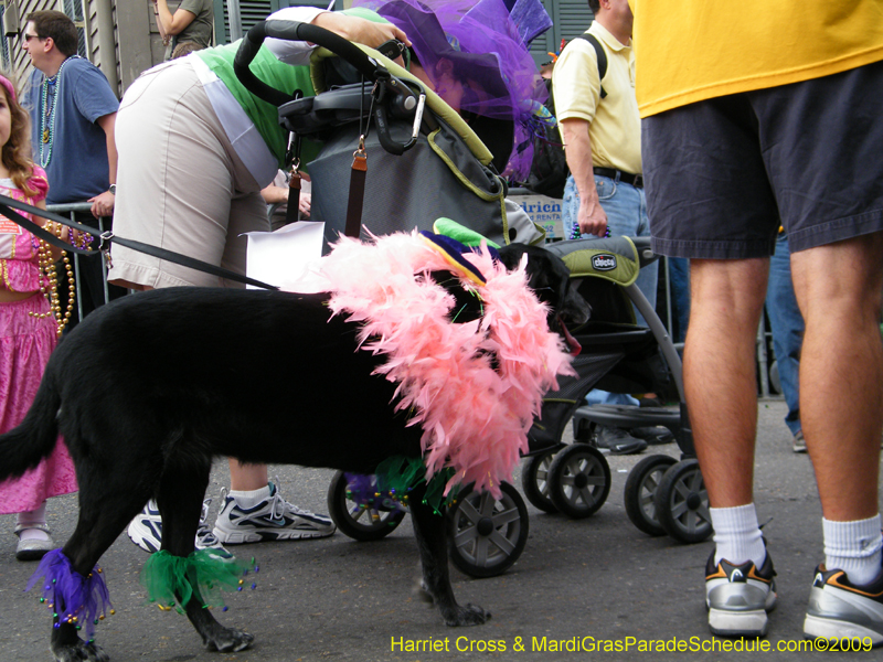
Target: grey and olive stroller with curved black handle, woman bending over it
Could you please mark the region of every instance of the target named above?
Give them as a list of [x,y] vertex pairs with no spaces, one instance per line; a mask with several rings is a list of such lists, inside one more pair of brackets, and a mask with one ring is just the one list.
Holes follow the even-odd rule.
[[[252,73],[248,65],[268,36],[322,46],[311,64],[316,96],[296,98]],[[398,55],[395,44],[389,52],[384,46],[381,51]],[[432,229],[440,216],[469,218],[470,229],[499,244],[521,238],[509,224],[506,184],[497,174],[506,163],[494,162],[459,115],[383,53],[315,25],[266,21],[243,40],[235,71],[252,93],[278,107],[279,124],[295,136],[295,159],[302,141],[320,145],[310,161],[311,217],[326,223],[326,246],[339,233],[368,237],[415,225]],[[511,145],[511,137],[506,140]],[[340,191],[350,181],[354,152],[365,154],[370,166],[364,190],[351,188],[348,199]],[[357,212],[360,205],[365,212],[364,223],[358,213],[354,225],[348,221],[353,195]],[[511,484],[501,489],[501,498],[493,499],[466,487],[447,511],[450,558],[476,577],[504,572],[526,543],[526,505]],[[359,541],[389,535],[407,511],[396,495],[377,491],[372,477],[343,472],[331,481],[328,508],[338,528]]]

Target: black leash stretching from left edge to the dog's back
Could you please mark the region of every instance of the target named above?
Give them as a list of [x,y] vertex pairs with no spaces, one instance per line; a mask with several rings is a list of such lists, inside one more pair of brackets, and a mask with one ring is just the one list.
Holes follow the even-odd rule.
[[12,221],[17,225],[21,225],[28,232],[43,239],[47,244],[52,244],[53,246],[63,248],[64,250],[68,250],[71,253],[76,253],[78,255],[94,256],[98,255],[99,253],[107,253],[110,249],[110,244],[115,243],[119,244],[120,246],[125,246],[126,248],[131,248],[132,250],[137,250],[146,255],[151,255],[153,257],[164,259],[166,261],[171,261],[181,265],[183,267],[189,267],[198,271],[203,271],[205,274],[211,274],[212,276],[217,276],[219,278],[235,280],[236,282],[244,282],[245,285],[253,285],[255,287],[259,287],[263,289],[269,289],[269,290],[279,289],[275,285],[267,285],[266,282],[262,282],[260,280],[248,278],[247,276],[243,276],[242,274],[236,274],[235,271],[231,271],[230,269],[215,267],[214,265],[210,265],[209,263],[204,263],[193,257],[188,257],[187,255],[181,255],[180,253],[174,253],[172,250],[167,250],[166,248],[151,246],[150,244],[142,244],[141,242],[136,242],[132,239],[126,239],[124,237],[119,237],[109,231],[97,234],[98,238],[100,239],[100,245],[98,246],[99,248],[98,250],[77,248],[76,246],[72,246],[67,242],[56,237],[51,232],[43,229],[36,223],[34,223],[29,218],[25,218],[14,210],[19,210],[21,212],[28,212],[29,214],[33,214],[35,216],[40,216],[42,218],[46,218],[47,221],[53,221],[55,223],[61,223],[62,225],[66,225],[67,227],[72,227],[78,232],[87,233],[91,235],[96,235],[96,233],[99,233],[100,231],[96,231],[94,227],[89,227],[88,225],[83,225],[82,223],[77,223],[76,221],[72,221],[71,218],[65,218],[64,216],[60,216],[58,214],[55,214],[53,212],[41,210],[40,207],[35,207],[33,205],[19,202],[18,200],[13,200],[12,197],[8,197],[6,195],[0,195],[0,214],[4,215],[7,218]]

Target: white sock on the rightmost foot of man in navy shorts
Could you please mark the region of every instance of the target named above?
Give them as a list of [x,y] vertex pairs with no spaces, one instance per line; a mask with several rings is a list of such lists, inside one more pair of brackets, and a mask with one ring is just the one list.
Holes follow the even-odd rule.
[[863,586],[881,572],[880,514],[854,522],[831,522],[822,517],[825,567],[843,570],[851,584]]

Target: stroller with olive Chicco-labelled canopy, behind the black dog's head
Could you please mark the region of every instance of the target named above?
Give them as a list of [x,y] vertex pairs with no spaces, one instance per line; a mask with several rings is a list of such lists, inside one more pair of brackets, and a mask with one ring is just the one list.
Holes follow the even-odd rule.
[[[674,435],[681,459],[651,455],[638,462],[625,485],[626,512],[649,535],[669,534],[683,543],[705,540],[712,531],[708,494],[693,449],[681,359],[635,285],[638,270],[656,259],[649,238],[577,239],[547,248],[564,259],[572,278],[582,280],[579,292],[592,305],[592,318],[574,331],[583,348],[574,361],[578,375],[560,381],[560,391],[544,399],[542,418],[529,435],[524,494],[545,512],[587,517],[610,489],[610,468],[594,445],[595,428],[662,426]],[[649,328],[635,324],[632,303]],[[593,388],[660,393],[677,397],[680,407],[587,406],[584,398]],[[575,442],[565,446],[562,434],[571,419]]]

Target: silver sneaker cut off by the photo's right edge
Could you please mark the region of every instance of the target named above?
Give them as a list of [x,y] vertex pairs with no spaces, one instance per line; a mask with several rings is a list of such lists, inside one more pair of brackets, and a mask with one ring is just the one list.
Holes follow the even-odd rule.
[[864,586],[850,583],[843,570],[816,568],[804,621],[808,639],[865,639],[883,644],[883,569]]

